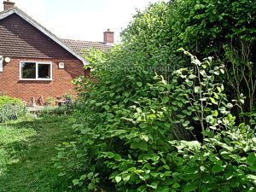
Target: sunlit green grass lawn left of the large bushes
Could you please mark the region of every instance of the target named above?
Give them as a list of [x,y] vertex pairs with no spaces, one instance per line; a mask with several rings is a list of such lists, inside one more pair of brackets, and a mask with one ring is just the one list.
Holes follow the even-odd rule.
[[72,133],[67,116],[0,124],[0,192],[64,192],[51,159]]

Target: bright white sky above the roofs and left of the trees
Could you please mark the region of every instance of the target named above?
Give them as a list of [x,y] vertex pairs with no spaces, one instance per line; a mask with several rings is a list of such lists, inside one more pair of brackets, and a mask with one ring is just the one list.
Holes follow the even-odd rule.
[[102,41],[103,32],[109,28],[115,32],[118,42],[119,32],[127,26],[136,9],[160,0],[11,1],[59,38]]

